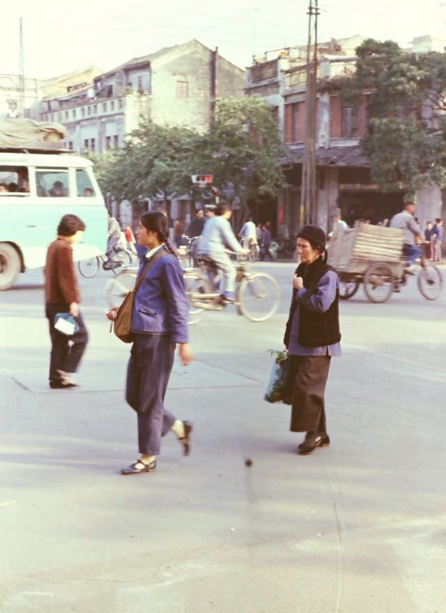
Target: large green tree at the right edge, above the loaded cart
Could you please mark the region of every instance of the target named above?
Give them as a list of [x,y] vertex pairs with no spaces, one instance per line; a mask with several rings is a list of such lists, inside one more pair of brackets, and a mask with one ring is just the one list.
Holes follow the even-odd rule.
[[368,94],[369,131],[362,148],[381,190],[446,185],[446,55],[415,54],[387,40],[357,47],[356,73],[341,98]]

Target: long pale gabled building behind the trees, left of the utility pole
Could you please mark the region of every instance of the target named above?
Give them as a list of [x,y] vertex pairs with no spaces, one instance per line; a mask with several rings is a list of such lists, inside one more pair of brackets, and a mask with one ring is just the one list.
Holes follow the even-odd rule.
[[70,149],[100,153],[123,146],[141,119],[206,131],[215,96],[243,96],[244,87],[241,68],[190,40],[45,98],[40,117],[66,126]]

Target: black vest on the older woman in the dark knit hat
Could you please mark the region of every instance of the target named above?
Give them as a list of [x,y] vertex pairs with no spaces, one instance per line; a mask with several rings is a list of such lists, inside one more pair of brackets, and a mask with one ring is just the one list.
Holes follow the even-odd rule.
[[[318,287],[319,279],[328,270],[333,270],[322,258],[318,258],[309,266],[300,264],[295,271],[295,274],[301,276],[304,281],[304,287],[309,290],[309,293],[314,293]],[[297,290],[293,290],[293,301],[289,320],[286,323],[286,331],[284,344],[289,345],[291,334],[291,323],[295,311],[295,295]],[[308,295],[308,293],[307,293]],[[341,340],[341,332],[339,330],[339,290],[336,291],[336,297],[330,308],[325,313],[316,313],[311,311],[300,302],[300,320],[299,320],[299,337],[298,341],[304,347],[323,347],[325,345],[334,345]]]

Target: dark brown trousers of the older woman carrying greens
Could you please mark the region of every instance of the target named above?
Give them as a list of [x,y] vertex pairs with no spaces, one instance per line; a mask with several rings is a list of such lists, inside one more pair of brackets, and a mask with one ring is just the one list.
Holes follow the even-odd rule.
[[326,434],[325,385],[330,355],[291,355],[290,381],[294,381],[291,432],[318,431]]

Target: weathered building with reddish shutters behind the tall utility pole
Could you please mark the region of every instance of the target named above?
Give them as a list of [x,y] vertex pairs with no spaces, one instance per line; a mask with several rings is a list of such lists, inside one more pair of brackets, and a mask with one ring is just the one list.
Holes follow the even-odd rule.
[[[403,191],[382,193],[371,182],[369,161],[360,146],[367,130],[367,92],[357,107],[339,97],[340,77],[354,73],[355,49],[363,40],[353,36],[318,45],[317,222],[328,231],[339,212],[348,223],[360,218],[377,223],[389,219],[403,206]],[[436,47],[440,44],[430,37],[414,39],[413,50],[431,50],[433,43]],[[286,166],[289,187],[277,195],[279,233],[297,232],[301,221],[306,85],[306,47],[280,50],[273,57],[267,55],[247,71],[247,95],[262,96],[270,103],[291,158],[291,165],[288,160]],[[417,215],[422,223],[440,216],[439,189],[424,188],[417,193],[417,199]]]

